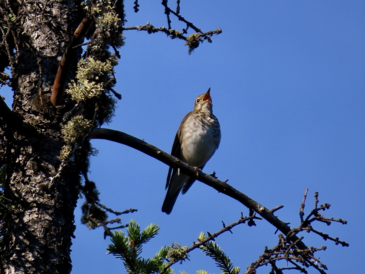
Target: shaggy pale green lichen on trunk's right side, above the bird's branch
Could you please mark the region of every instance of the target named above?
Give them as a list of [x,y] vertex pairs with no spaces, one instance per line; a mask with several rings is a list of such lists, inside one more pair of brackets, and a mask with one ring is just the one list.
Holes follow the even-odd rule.
[[[120,58],[116,48],[123,45],[124,24],[123,1],[95,0],[86,5],[87,15],[95,21],[95,30],[91,34],[85,59],[77,64],[75,79],[70,81],[65,91],[85,110],[94,112],[93,125],[100,126],[110,122],[114,115],[116,100],[120,99],[114,91],[116,79],[114,66]],[[115,50],[111,54],[110,48]]]

